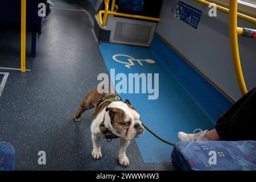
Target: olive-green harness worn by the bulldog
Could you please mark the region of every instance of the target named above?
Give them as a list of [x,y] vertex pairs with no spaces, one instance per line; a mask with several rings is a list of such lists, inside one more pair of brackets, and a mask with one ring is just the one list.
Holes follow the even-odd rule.
[[[118,96],[118,94],[115,94],[115,93],[106,94],[100,101],[98,101],[96,109],[94,110],[94,113],[93,113],[93,117],[95,116],[98,107],[100,107],[102,104],[105,104],[107,102],[109,102],[110,104],[112,102],[117,102],[117,101],[122,101],[122,98]],[[120,137],[113,134],[112,131],[110,131],[105,127],[105,114],[106,113],[104,113],[103,121],[100,123],[99,127],[100,127],[101,133],[104,134],[104,138],[107,139],[108,142],[111,142],[112,139],[120,138]]]

